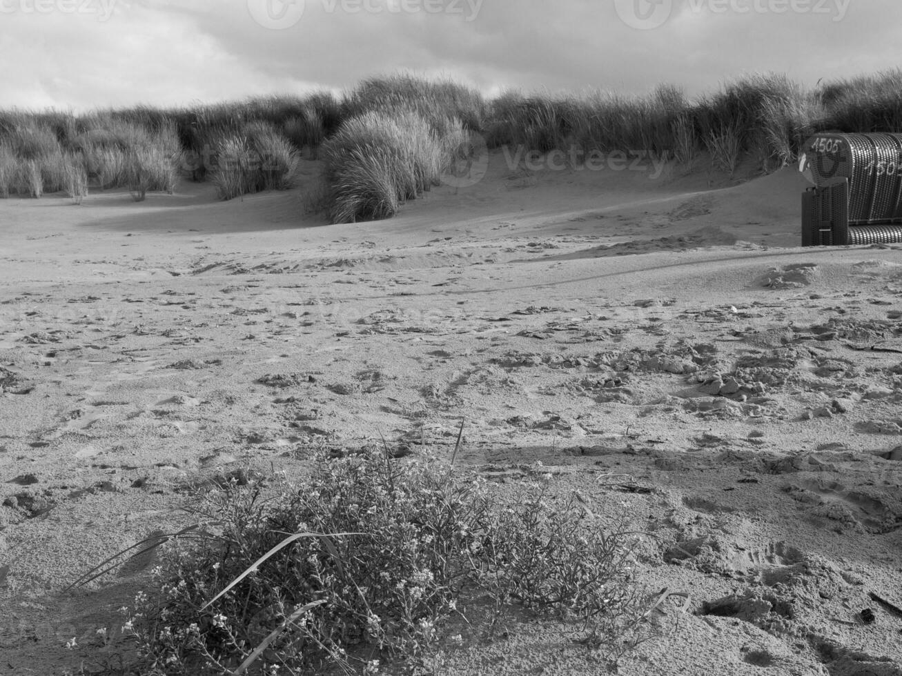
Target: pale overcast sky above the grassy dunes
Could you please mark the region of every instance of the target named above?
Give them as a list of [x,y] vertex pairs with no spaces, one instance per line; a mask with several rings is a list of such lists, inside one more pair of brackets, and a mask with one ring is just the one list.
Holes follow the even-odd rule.
[[0,106],[180,105],[399,70],[695,95],[902,66],[900,0],[0,0]]

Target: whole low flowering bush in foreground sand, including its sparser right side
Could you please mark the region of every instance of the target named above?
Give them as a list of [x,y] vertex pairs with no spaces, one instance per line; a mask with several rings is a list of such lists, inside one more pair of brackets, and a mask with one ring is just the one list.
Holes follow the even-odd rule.
[[541,488],[518,499],[498,513],[483,480],[376,449],[320,456],[299,485],[228,484],[204,509],[218,534],[167,545],[159,591],[128,611],[142,672],[299,674],[411,656],[478,588],[498,607],[581,622],[613,652],[638,637],[649,605],[626,536],[572,501],[545,505]]

